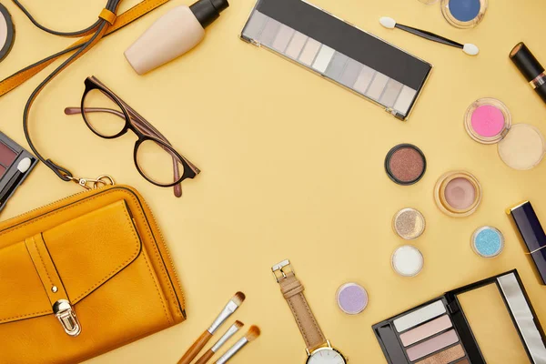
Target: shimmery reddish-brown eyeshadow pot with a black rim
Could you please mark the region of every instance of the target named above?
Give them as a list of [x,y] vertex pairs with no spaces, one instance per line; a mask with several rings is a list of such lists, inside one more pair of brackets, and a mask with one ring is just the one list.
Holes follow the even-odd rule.
[[396,184],[410,186],[420,181],[427,171],[427,158],[419,147],[399,144],[385,157],[385,172]]

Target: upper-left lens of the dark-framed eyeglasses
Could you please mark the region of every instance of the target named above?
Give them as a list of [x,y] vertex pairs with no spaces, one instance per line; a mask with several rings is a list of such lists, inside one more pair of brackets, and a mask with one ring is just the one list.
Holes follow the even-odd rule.
[[87,124],[101,136],[116,136],[126,125],[125,114],[116,101],[96,88],[84,99],[84,115]]

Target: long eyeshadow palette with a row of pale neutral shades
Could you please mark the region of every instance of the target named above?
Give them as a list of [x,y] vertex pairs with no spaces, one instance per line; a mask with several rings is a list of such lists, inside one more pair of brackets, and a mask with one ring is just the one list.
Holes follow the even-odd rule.
[[432,66],[301,0],[259,0],[241,38],[406,120]]

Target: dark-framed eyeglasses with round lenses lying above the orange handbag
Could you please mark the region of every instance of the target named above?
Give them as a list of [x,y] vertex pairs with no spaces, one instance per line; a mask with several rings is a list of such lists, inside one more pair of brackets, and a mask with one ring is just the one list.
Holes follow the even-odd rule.
[[[81,107],[66,107],[66,115],[81,113],[86,125],[97,136],[114,139],[131,130],[138,136],[134,160],[138,172],[159,187],[175,187],[180,197],[180,183],[200,172],[194,164],[171,146],[154,126],[116,96],[95,76],[87,77]],[[182,173],[180,173],[182,172]]]

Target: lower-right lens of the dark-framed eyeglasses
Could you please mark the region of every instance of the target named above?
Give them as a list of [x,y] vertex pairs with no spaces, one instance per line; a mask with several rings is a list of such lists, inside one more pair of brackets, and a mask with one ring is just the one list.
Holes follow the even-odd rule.
[[172,185],[184,174],[182,161],[174,151],[154,140],[145,140],[138,146],[136,163],[149,180],[160,186]]

